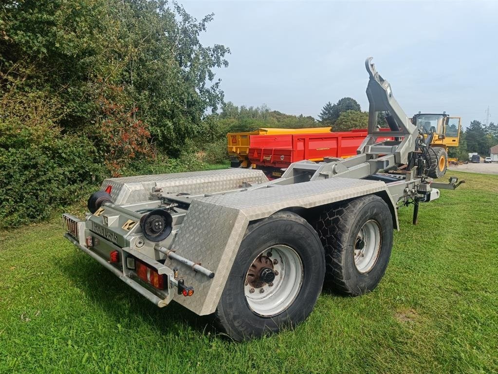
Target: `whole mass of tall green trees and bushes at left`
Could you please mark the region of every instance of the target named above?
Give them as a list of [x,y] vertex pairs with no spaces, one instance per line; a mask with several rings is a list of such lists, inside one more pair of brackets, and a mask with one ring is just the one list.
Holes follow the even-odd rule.
[[203,167],[185,143],[215,128],[203,119],[223,103],[214,69],[230,53],[201,44],[212,19],[162,0],[3,1],[2,225],[45,219],[104,174],[158,169],[156,152],[168,171]]

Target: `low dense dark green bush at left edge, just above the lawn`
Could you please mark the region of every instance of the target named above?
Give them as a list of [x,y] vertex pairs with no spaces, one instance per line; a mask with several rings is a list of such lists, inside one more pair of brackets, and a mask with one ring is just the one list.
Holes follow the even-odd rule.
[[0,153],[0,227],[50,217],[54,210],[86,194],[102,168],[95,148],[84,138],[47,136],[37,144]]

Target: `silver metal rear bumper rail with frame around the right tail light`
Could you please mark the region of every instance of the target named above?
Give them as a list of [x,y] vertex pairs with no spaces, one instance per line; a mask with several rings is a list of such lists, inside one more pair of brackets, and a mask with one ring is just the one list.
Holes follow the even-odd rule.
[[[103,257],[101,257],[99,254],[96,252],[92,251],[91,249],[86,248],[85,246],[82,246],[78,240],[73,238],[69,233],[64,234],[64,237],[73,243],[76,247],[81,249],[83,252],[88,254],[90,257],[95,259],[97,262],[99,262],[102,266],[104,266],[106,269],[110,270],[114,275],[116,275],[118,278],[120,278],[124,283],[126,283],[128,286],[133,288],[135,291],[137,291],[140,295],[144,296],[147,300],[151,301],[158,307],[164,307],[169,304],[169,302],[173,299],[173,292],[172,292],[172,284],[171,284],[171,279],[174,279],[173,275],[173,270],[171,270],[169,267],[164,266],[160,262],[157,262],[155,260],[152,260],[151,258],[143,255],[142,253],[133,250],[133,249],[120,249],[120,254],[121,258],[125,258],[127,254],[132,255],[133,257],[136,257],[140,259],[143,262],[148,263],[149,265],[157,268],[157,271],[159,274],[165,274],[167,275],[168,278],[168,288],[164,290],[166,295],[164,297],[159,297],[158,295],[154,294],[153,292],[149,291],[147,288],[142,286],[139,282],[133,280],[131,278],[132,272],[128,270],[125,266],[125,261],[122,261],[122,269],[118,269],[114,265],[112,265],[110,262],[105,260]],[[174,280],[173,280],[174,281]],[[176,281],[174,281],[176,283]]]

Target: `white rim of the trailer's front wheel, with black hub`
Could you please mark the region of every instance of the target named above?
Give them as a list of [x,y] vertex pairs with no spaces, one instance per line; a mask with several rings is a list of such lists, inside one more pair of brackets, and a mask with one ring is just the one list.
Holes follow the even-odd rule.
[[372,270],[380,254],[380,227],[373,220],[365,222],[355,240],[355,266],[361,273]]

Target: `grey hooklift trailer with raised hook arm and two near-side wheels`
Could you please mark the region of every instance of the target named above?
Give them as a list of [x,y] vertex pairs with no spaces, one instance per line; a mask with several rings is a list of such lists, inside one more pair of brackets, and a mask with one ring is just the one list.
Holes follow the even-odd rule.
[[[343,294],[373,290],[398,205],[414,205],[415,224],[418,204],[439,190],[429,145],[371,60],[356,156],[295,162],[272,181],[250,169],[109,178],[84,220],[64,214],[65,237],[155,305],[213,314],[237,341],[306,319],[324,278]],[[377,129],[379,113],[389,131]]]

